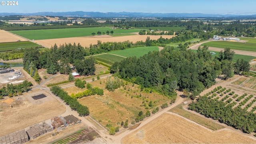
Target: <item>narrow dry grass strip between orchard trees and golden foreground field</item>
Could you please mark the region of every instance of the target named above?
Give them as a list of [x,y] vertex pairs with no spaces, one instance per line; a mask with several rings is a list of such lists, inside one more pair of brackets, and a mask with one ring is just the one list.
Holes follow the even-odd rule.
[[180,116],[183,116],[184,118],[188,118],[202,126],[205,126],[206,128],[210,128],[211,130],[220,130],[220,129],[224,128],[224,126],[221,126],[219,124],[216,124],[215,122],[211,122],[209,120],[206,120],[205,118],[202,118],[200,116],[197,116],[195,114],[192,114],[192,113],[184,110],[182,105],[178,105],[169,111],[174,112]]

